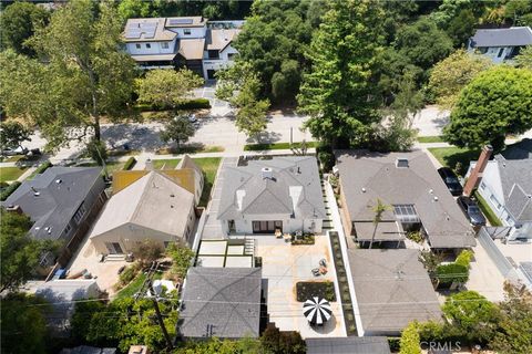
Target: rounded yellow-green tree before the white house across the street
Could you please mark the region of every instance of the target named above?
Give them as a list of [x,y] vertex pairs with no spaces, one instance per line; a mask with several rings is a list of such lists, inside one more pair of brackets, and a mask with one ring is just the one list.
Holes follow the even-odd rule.
[[203,85],[203,79],[188,69],[151,70],[141,80],[139,102],[175,110],[190,92]]

